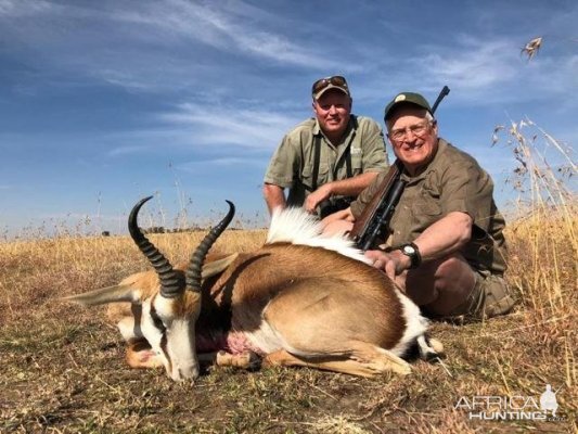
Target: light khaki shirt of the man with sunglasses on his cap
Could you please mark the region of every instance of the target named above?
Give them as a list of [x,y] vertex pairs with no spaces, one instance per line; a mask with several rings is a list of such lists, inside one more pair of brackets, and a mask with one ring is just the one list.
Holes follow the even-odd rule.
[[335,146],[316,118],[307,119],[283,138],[265,174],[266,183],[290,189],[287,205],[301,206],[312,192],[316,138],[321,144],[318,188],[347,178],[349,148],[352,176],[388,167],[383,132],[375,120],[351,115],[342,142]]

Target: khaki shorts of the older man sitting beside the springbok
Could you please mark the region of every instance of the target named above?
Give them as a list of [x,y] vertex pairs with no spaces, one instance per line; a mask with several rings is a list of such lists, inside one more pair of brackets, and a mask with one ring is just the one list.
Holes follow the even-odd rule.
[[516,302],[504,278],[488,271],[474,272],[476,275],[474,290],[467,299],[447,317],[483,320],[512,310]]

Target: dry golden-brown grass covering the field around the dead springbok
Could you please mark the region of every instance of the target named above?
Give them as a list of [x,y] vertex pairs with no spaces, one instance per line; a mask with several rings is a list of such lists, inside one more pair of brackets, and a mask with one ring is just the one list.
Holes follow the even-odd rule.
[[[518,135],[518,136],[516,136]],[[149,266],[126,237],[0,244],[1,432],[478,433],[576,432],[578,206],[562,171],[539,164],[536,142],[510,130],[526,201],[511,222],[509,281],[521,304],[484,323],[435,323],[440,365],[407,378],[351,378],[309,369],[210,369],[194,385],[130,370],[123,342],[93,311],[55,297],[117,282]],[[522,138],[522,139],[521,139]],[[562,149],[562,146],[561,146]],[[571,158],[568,158],[571,163]],[[517,183],[516,183],[517,182]],[[151,235],[182,260],[202,233]],[[264,231],[228,231],[227,251],[260,245]],[[478,421],[462,396],[531,396],[558,390],[561,421]]]

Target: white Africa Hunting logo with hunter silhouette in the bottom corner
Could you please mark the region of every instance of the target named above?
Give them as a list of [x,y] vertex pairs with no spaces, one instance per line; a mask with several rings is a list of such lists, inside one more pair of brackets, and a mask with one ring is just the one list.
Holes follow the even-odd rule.
[[540,397],[534,396],[462,396],[455,409],[467,410],[470,420],[535,420],[564,421],[556,416],[558,409],[556,391],[550,384]]

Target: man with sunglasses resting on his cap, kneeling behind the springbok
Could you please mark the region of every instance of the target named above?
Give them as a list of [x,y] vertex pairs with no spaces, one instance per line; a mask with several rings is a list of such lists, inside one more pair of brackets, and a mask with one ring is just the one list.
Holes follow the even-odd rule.
[[317,80],[311,95],[316,117],[283,138],[265,175],[262,191],[270,213],[303,205],[324,217],[346,208],[387,168],[382,129],[375,120],[351,114],[344,77]]

